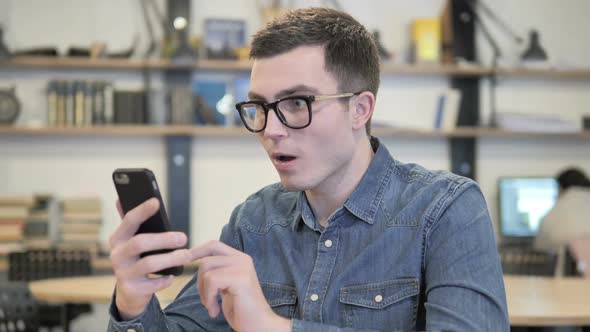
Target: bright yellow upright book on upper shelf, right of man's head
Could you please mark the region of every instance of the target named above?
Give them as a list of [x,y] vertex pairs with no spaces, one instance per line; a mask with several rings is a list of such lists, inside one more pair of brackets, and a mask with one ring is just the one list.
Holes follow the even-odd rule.
[[417,18],[412,22],[412,53],[415,63],[439,63],[441,21],[438,17]]

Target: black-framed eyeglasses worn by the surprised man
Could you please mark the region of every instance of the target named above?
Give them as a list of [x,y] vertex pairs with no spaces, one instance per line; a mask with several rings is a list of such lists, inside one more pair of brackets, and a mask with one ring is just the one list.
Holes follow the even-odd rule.
[[[361,91],[362,92],[362,91]],[[348,92],[335,95],[289,96],[272,103],[261,100],[248,100],[236,104],[236,110],[246,129],[258,133],[266,128],[268,112],[273,110],[282,124],[291,129],[303,129],[311,124],[311,103],[314,101],[349,98],[361,92]]]

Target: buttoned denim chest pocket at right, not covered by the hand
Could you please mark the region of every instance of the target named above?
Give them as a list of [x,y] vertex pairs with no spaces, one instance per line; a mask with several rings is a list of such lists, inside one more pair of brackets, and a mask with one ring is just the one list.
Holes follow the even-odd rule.
[[343,287],[343,323],[347,327],[378,330],[413,329],[419,292],[416,278]]

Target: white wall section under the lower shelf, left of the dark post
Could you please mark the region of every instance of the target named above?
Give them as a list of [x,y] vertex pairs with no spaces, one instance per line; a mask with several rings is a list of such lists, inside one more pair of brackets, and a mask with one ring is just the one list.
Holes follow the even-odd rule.
[[0,192],[99,195],[106,241],[119,222],[111,174],[116,168],[146,167],[159,176],[166,197],[164,143],[158,137],[0,138]]

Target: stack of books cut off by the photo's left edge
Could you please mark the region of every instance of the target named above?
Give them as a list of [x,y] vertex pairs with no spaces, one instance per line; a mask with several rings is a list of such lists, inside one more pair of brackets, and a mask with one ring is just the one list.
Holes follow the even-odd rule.
[[32,205],[31,195],[0,196],[0,261],[6,262],[9,252],[23,249],[25,221]]

